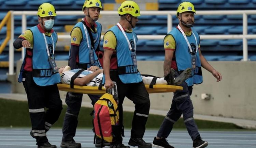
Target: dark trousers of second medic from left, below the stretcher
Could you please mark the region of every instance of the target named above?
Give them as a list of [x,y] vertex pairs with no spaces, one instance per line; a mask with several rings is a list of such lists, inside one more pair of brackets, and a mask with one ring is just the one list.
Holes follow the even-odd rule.
[[[101,95],[88,95],[91,99],[91,104],[94,106],[97,100],[101,97]],[[71,141],[75,136],[78,120],[77,117],[79,115],[79,111],[81,109],[83,94],[78,93],[70,93],[68,92],[66,95],[66,104],[68,105],[64,123],[62,127],[62,141]]]

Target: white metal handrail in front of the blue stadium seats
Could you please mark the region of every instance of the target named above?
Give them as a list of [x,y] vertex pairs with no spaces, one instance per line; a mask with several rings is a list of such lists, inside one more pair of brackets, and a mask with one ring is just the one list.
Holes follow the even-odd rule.
[[[11,11],[11,39],[9,44],[9,75],[14,74],[14,16],[22,15],[22,32],[26,30],[26,15],[37,15],[37,11]],[[176,15],[176,11],[141,11],[141,15],[167,15],[167,32],[172,28],[172,15]],[[117,15],[117,11],[101,11],[101,15]],[[200,35],[201,39],[243,39],[243,61],[248,60],[247,39],[255,39],[256,35],[247,34],[247,15],[256,14],[255,10],[221,10],[221,11],[197,11],[197,15],[243,15],[243,34],[236,35]],[[84,15],[82,11],[57,11],[57,15]],[[164,35],[138,35],[139,39],[163,39]],[[69,35],[58,35],[58,38],[70,38]],[[102,38],[102,36],[101,36]],[[22,59],[24,58],[24,49],[22,51]]]

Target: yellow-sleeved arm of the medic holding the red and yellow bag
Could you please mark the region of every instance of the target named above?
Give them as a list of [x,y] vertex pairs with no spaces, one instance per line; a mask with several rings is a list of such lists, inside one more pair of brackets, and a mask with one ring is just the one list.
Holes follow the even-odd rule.
[[104,35],[104,54],[103,54],[103,67],[104,67],[104,75],[105,75],[105,88],[110,89],[114,86],[111,78],[110,78],[110,60],[111,56],[116,48],[116,37],[113,32],[106,32]]

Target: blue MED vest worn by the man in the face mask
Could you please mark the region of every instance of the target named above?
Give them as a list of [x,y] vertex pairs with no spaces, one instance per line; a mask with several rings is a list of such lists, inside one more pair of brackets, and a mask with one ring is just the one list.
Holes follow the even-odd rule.
[[[57,84],[60,82],[60,75],[59,73],[53,73],[52,67],[48,62],[48,54],[47,49],[44,41],[43,34],[39,31],[37,26],[34,26],[30,28],[32,34],[33,34],[33,49],[32,49],[32,76],[34,82],[39,86],[48,86]],[[57,33],[54,31],[52,33],[53,42],[52,43],[52,37],[51,36],[45,36],[48,49],[50,50],[50,56],[54,58],[53,55],[53,44],[54,48],[56,47],[57,43]],[[25,51],[26,52],[26,51]],[[24,65],[25,65],[25,58],[22,64],[22,67],[20,69],[20,74],[18,81],[22,82],[22,73],[24,71]]]

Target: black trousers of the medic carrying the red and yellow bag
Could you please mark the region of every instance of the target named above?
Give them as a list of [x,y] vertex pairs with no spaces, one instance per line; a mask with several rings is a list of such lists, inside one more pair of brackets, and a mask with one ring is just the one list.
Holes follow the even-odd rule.
[[[119,99],[119,125],[123,127],[123,102],[124,98],[127,97],[135,104],[135,110],[132,119],[131,137],[142,138],[145,133],[145,125],[150,110],[150,99],[144,83],[140,82],[124,84],[119,79],[117,71],[112,70],[110,71],[110,78],[117,84],[117,97]],[[121,133],[116,138],[117,140],[111,143],[112,145],[122,143],[123,138]]]

